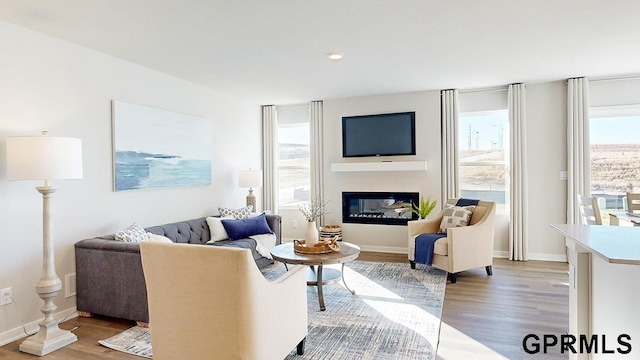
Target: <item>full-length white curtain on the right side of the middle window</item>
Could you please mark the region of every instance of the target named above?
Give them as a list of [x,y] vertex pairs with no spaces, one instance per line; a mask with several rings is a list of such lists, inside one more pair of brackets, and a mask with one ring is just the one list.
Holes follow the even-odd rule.
[[527,115],[523,84],[509,85],[509,260],[528,259]]

